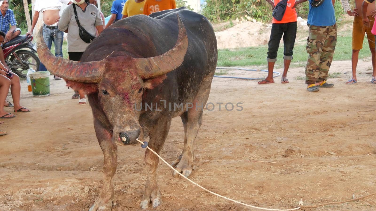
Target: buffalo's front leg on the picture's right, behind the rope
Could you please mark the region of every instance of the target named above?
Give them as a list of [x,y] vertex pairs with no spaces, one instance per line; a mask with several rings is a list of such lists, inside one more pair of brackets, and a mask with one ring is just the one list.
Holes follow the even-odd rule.
[[[163,123],[162,123],[163,122]],[[159,154],[170,130],[171,120],[158,121],[158,125],[152,128],[150,133],[149,147]],[[145,152],[145,164],[147,168],[147,181],[145,184],[144,196],[142,197],[140,207],[147,209],[152,202],[153,207],[162,203],[161,194],[156,179],[156,170],[159,158],[149,149]]]

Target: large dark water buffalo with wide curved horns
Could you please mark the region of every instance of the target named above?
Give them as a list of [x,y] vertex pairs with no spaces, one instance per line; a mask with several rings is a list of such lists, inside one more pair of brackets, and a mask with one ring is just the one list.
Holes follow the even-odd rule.
[[[185,137],[173,166],[185,176],[192,173],[193,143],[217,65],[217,40],[203,15],[179,8],[125,18],[94,39],[80,62],[53,56],[43,41],[42,29],[38,42],[38,55],[47,69],[88,96],[105,176],[90,210],[111,210],[115,205],[117,145],[135,144],[137,138],[149,136],[149,147],[159,153],[171,118],[176,116],[182,119]],[[182,107],[174,109],[168,106],[171,104]],[[162,202],[156,181],[158,161],[146,150],[143,209],[150,202],[154,207]]]

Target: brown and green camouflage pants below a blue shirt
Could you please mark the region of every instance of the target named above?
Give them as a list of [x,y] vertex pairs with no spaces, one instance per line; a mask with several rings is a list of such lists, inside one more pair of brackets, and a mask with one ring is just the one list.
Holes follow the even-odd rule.
[[337,43],[337,24],[309,26],[307,38],[308,60],[305,69],[306,84],[326,81]]

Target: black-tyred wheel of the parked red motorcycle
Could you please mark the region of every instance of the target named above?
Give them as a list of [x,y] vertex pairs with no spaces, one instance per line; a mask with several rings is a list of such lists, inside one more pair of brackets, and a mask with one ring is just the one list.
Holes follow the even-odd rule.
[[30,68],[34,69],[35,71],[39,70],[41,61],[35,53],[27,50],[19,50],[15,53],[17,53],[17,55],[23,60],[23,63],[16,59],[14,54],[12,53],[9,58],[9,61],[12,65],[12,72],[16,73],[21,78],[26,78],[27,71]]

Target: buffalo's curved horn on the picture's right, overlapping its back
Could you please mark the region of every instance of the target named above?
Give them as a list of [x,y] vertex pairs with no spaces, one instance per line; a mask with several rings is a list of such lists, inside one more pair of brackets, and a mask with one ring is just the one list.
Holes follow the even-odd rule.
[[159,56],[135,59],[136,68],[139,70],[142,78],[154,78],[167,74],[183,63],[188,49],[188,37],[179,15],[177,15],[177,21],[179,24],[179,35],[177,36],[175,46],[171,50]]

